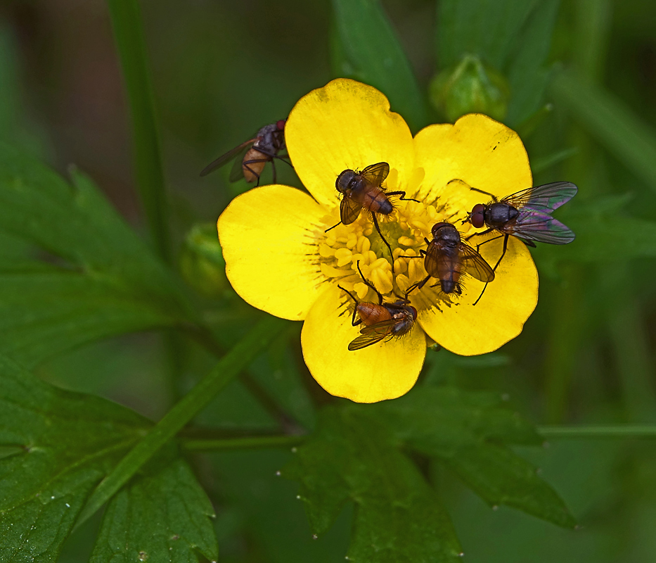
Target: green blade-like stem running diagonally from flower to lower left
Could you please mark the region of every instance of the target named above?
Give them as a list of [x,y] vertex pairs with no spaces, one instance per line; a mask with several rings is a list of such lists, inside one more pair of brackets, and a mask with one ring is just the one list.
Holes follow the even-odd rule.
[[224,355],[212,371],[182,398],[167,414],[150,429],[112,472],[101,481],[77,519],[76,527],[86,521],[112,498],[157,450],[171,440],[195,415],[228,385],[260,350],[276,338],[281,321],[266,317],[260,321],[229,353]]

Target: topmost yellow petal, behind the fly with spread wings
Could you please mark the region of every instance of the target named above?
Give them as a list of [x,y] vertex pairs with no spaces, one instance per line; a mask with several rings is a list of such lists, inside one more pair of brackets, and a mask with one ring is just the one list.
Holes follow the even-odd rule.
[[335,180],[348,168],[390,165],[387,189],[406,190],[413,172],[412,135],[377,89],[346,78],[303,96],[285,125],[285,142],[303,185],[322,205],[339,205]]

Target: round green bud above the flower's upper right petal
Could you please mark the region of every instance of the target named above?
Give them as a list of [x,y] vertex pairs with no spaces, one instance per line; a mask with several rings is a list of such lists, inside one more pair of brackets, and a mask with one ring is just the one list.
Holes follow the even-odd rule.
[[503,120],[510,90],[506,79],[475,55],[439,72],[430,82],[430,100],[450,122],[465,113],[484,113]]

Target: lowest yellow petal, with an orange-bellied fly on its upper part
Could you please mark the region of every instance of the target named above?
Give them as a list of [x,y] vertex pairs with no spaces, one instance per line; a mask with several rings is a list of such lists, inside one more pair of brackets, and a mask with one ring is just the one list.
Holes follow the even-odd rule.
[[360,327],[351,324],[352,304],[331,284],[311,308],[301,333],[310,373],[331,395],[356,403],[404,395],[417,381],[426,355],[421,327],[415,324],[399,339],[351,351],[349,343],[360,334]]

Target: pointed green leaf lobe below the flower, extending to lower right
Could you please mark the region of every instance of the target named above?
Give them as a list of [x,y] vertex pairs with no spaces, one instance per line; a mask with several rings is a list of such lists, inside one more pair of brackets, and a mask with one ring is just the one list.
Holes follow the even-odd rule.
[[409,448],[437,457],[490,505],[505,504],[573,527],[574,517],[536,469],[507,447],[541,437],[489,393],[420,388],[375,407]]

